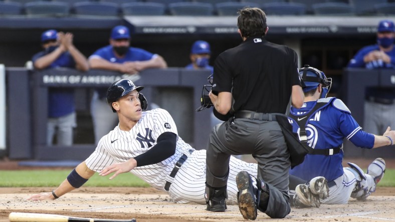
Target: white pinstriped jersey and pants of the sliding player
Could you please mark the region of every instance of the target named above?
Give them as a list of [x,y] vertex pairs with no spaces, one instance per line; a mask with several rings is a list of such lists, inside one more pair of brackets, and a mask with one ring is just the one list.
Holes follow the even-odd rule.
[[[95,151],[85,162],[90,169],[99,172],[106,166],[125,162],[146,152],[157,143],[158,136],[163,132],[173,132],[178,135],[171,115],[161,108],[144,111],[130,131],[123,131],[116,126],[114,130],[103,136]],[[169,195],[175,202],[205,204],[206,150],[196,150],[191,154],[188,150],[194,149],[178,136],[175,153],[172,156],[155,164],[135,167],[130,172],[160,190],[164,190],[166,181],[171,182]],[[175,163],[183,154],[188,158],[175,177],[170,177]],[[237,202],[236,174],[241,170],[257,176],[257,164],[231,157],[228,179],[229,204]]]

